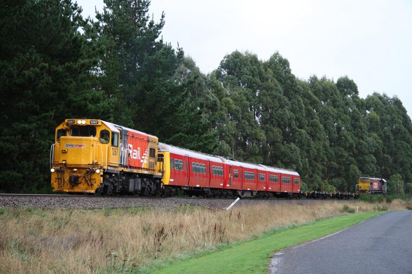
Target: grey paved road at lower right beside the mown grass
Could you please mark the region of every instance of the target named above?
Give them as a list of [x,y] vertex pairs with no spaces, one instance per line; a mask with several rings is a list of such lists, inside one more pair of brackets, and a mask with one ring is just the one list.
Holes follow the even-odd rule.
[[391,211],[282,250],[269,273],[412,274],[412,210]]

